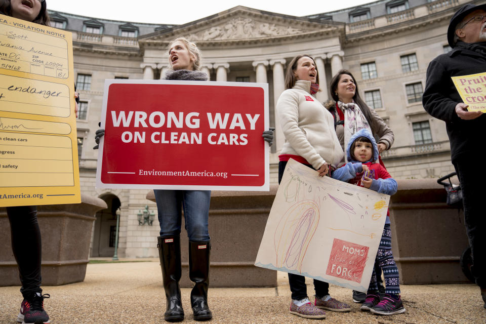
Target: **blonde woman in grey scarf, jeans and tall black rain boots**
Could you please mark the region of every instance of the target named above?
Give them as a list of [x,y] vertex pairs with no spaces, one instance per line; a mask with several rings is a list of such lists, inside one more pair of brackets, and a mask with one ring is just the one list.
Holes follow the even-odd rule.
[[[169,64],[166,80],[206,81],[206,73],[199,71],[201,53],[197,46],[184,37],[174,39],[169,45]],[[96,132],[96,143],[104,130]],[[265,131],[263,138],[270,145],[272,131]],[[98,148],[95,146],[95,148]],[[189,278],[194,282],[191,291],[191,307],[195,320],[209,320],[213,313],[208,306],[211,240],[208,231],[209,190],[160,190],[155,189],[160,236],[157,247],[164,279],[167,321],[181,321],[184,310],[181,302],[179,280],[181,278],[180,233],[182,210],[189,238]]]

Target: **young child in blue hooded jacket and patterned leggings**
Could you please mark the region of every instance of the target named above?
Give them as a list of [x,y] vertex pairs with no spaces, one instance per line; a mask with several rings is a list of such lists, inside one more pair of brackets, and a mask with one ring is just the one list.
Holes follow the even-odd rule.
[[[349,139],[346,154],[349,162],[334,171],[334,179],[389,195],[396,192],[396,181],[385,168],[375,163],[378,160],[378,146],[368,130],[361,129]],[[369,310],[380,315],[405,312],[400,299],[398,268],[391,252],[391,229],[388,212],[376,260],[385,276],[385,294],[380,297],[376,273],[373,269],[366,300],[362,304],[361,310]]]

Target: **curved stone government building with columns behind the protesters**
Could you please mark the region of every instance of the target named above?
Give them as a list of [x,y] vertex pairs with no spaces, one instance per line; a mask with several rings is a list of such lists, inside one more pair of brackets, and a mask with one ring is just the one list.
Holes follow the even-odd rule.
[[[203,51],[203,71],[211,80],[269,84],[270,125],[276,127],[270,173],[277,182],[283,144],[274,103],[284,91],[286,64],[297,54],[315,58],[320,85],[329,87],[341,68],[357,79],[360,94],[395,134],[382,154],[396,179],[437,178],[454,168],[443,121],[422,107],[428,63],[447,53],[449,20],[464,0],[379,0],[334,12],[294,17],[235,7],[184,25],[112,21],[51,11],[52,26],[72,32],[74,73],[81,103],[77,120],[82,192],[98,196],[108,209],[97,214],[91,256],[112,256],[115,211],[121,207],[120,257],[155,257],[153,226],[140,226],[147,190],[95,189],[94,133],[101,120],[105,79],[158,79],[168,69],[169,41],[186,36]],[[470,2],[479,4],[479,1]],[[330,98],[329,91],[317,95]]]

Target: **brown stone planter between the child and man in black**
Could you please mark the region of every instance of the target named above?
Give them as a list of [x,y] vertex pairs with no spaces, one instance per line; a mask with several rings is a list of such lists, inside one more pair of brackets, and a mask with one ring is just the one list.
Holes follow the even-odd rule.
[[397,180],[390,198],[393,257],[400,283],[468,282],[459,265],[469,246],[462,211],[446,204],[436,179]]

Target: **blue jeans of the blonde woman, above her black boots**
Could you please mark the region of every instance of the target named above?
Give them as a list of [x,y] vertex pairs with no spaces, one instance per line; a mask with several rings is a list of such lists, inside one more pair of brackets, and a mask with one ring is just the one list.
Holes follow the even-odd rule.
[[157,203],[160,236],[181,233],[182,209],[189,240],[209,240],[208,218],[211,191],[153,190]]

